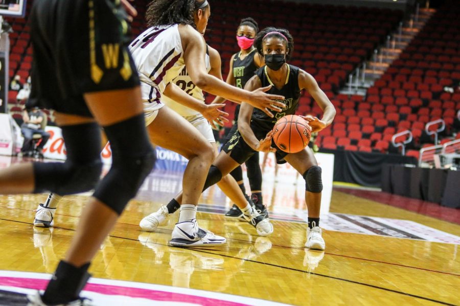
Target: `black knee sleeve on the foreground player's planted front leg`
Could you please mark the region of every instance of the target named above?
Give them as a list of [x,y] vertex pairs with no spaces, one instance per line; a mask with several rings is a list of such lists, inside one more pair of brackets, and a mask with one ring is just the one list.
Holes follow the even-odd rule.
[[121,214],[155,165],[155,150],[145,130],[144,115],[105,126],[112,150],[110,171],[94,196]]

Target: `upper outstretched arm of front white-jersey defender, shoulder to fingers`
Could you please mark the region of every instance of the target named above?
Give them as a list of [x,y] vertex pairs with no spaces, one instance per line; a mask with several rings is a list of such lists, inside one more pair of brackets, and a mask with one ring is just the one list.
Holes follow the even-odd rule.
[[[184,50],[183,59],[190,78],[196,86],[206,92],[229,100],[247,101],[247,103],[263,111],[265,109],[277,112],[282,110],[283,104],[275,101],[275,99],[284,99],[283,96],[266,94],[262,90],[248,92],[228,85],[213,75],[209,75],[205,69],[204,57],[202,56],[206,47],[203,37],[189,25],[180,25],[179,33]],[[267,115],[273,117],[270,112],[267,112]]]

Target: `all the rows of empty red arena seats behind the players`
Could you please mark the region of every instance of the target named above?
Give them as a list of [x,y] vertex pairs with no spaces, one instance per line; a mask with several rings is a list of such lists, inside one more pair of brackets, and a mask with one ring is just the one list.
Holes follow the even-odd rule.
[[[143,16],[147,3],[147,0],[136,1],[139,15],[132,23],[134,36],[145,29]],[[28,10],[31,4],[29,1]],[[235,10],[239,5],[245,9]],[[444,92],[444,87],[455,87],[460,82],[460,34],[456,31],[460,21],[453,17],[458,15],[458,10],[457,6],[438,10],[365,97],[337,94],[337,90],[343,86],[347,75],[369,59],[374,48],[396,29],[402,19],[399,11],[220,0],[213,4],[206,40],[220,51],[225,78],[229,59],[238,50],[235,32],[242,18],[254,17],[260,28],[264,28],[272,25],[273,14],[282,11],[289,15],[288,20],[277,20],[275,25],[287,28],[294,36],[291,63],[315,77],[337,110],[334,123],[320,133],[316,144],[325,148],[387,152],[393,134],[407,129],[412,131],[415,148],[418,148],[423,144],[420,139],[425,124],[433,119],[443,118],[447,133],[452,131],[455,113],[460,109],[460,92]],[[29,75],[32,60],[27,16],[25,19],[7,18],[14,30],[10,34],[10,78],[19,74],[23,81]],[[207,101],[213,98],[206,96]],[[10,110],[20,107],[15,92],[10,93],[9,106]],[[233,119],[235,105],[229,103],[225,110]],[[298,112],[322,113],[306,92],[301,97]],[[13,115],[18,114],[18,109],[13,109]],[[48,119],[52,121],[52,117]],[[415,153],[408,150],[407,155],[410,154]]]

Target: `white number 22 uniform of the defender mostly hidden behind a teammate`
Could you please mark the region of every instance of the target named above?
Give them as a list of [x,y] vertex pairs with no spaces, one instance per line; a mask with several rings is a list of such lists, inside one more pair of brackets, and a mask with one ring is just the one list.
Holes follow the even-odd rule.
[[[205,56],[204,62],[206,64],[206,70],[209,72],[211,70],[211,62],[210,62],[209,51],[208,50],[206,50],[206,56]],[[168,83],[170,81],[171,80],[167,80]],[[180,72],[180,74],[178,75],[178,77],[176,77],[171,82],[173,82],[174,84],[179,86],[183,91],[185,91],[186,93],[188,93],[192,97],[194,97],[194,98],[196,98],[196,99],[198,99],[200,101],[203,101],[203,103],[204,103],[203,91],[199,87],[195,86],[195,84],[193,84],[192,79],[190,78],[190,75],[187,72],[187,67],[183,67],[183,69]],[[160,98],[160,100],[164,104],[166,104],[170,109],[172,109],[173,111],[175,111],[176,113],[178,113],[182,117],[196,116],[196,115],[200,114],[199,112],[197,112],[197,111],[195,111],[195,110],[193,110],[193,109],[191,109],[191,108],[189,108],[189,107],[187,107],[185,105],[177,103],[176,101],[168,98],[165,95],[162,96]]]

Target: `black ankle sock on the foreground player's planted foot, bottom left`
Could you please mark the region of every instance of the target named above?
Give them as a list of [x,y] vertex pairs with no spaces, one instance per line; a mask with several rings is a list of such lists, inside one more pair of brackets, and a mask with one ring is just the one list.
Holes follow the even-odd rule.
[[78,268],[60,261],[41,300],[45,304],[57,305],[78,299],[81,290],[91,276],[87,272],[88,268],[89,263]]

